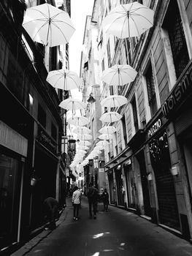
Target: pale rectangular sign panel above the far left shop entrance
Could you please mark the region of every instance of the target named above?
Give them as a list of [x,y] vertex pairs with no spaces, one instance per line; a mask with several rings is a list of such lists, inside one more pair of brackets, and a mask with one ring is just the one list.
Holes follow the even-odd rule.
[[0,121],[0,145],[27,156],[28,140]]

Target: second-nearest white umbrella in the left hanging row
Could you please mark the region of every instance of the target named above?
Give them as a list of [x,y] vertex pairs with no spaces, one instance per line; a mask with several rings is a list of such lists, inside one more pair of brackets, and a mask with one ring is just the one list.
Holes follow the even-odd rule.
[[54,88],[69,91],[80,88],[80,78],[77,73],[68,69],[50,71],[47,75],[47,82]]

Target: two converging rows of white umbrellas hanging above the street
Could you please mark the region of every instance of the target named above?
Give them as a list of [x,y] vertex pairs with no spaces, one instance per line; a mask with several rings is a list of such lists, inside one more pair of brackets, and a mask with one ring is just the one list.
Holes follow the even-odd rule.
[[[128,38],[128,42],[130,43],[131,37],[139,37],[153,26],[153,16],[153,10],[150,10],[150,8],[143,4],[139,4],[137,1],[131,4],[118,4],[104,18],[102,26],[107,34],[112,34],[119,39]],[[50,48],[68,43],[75,31],[68,13],[47,3],[28,8],[24,16],[23,27],[31,39]],[[137,71],[130,65],[115,64],[104,70],[101,80],[107,86],[129,86],[135,80],[136,76]],[[69,69],[50,71],[47,75],[47,82],[55,89],[62,89],[64,91],[80,89],[81,85],[78,75]],[[126,97],[114,94],[102,99],[101,106],[114,110],[125,105],[127,102]],[[89,124],[89,120],[85,116],[77,116],[75,113],[76,110],[83,110],[86,106],[85,102],[72,97],[64,99],[59,105],[60,108],[72,112],[72,117],[68,118],[67,122],[76,127],[73,132],[77,135],[77,140],[79,141],[77,143],[76,154],[70,165],[72,169],[75,169],[77,165],[80,165],[80,167],[87,165],[89,159],[97,157],[101,154],[102,150],[110,145],[107,140],[112,138],[112,134],[116,132],[116,128],[108,124],[120,121],[122,118],[116,111],[102,114],[100,120],[104,127],[99,130],[101,133],[99,135],[100,141],[96,143],[93,151],[85,157],[88,146],[91,146],[88,140],[92,140],[91,129],[85,127]]]

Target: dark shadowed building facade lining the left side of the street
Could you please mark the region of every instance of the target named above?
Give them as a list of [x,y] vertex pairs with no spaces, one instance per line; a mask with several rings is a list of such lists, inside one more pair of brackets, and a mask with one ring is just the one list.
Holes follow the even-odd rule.
[[26,241],[45,222],[46,197],[65,204],[63,94],[46,82],[48,71],[61,68],[63,54],[33,42],[22,27],[26,8],[44,2],[0,4],[0,249]]

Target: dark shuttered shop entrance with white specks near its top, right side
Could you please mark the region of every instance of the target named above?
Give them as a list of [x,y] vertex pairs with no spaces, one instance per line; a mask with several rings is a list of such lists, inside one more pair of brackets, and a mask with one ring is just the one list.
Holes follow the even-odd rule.
[[158,196],[158,217],[161,224],[180,230],[171,160],[166,132],[149,144]]

